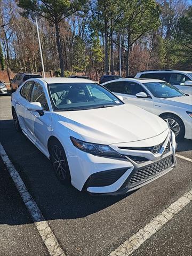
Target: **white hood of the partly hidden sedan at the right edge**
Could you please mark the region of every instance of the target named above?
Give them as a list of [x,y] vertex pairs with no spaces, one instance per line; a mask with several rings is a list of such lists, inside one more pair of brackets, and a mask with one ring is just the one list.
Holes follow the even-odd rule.
[[192,105],[192,95],[189,96],[181,96],[167,99],[160,99],[162,103],[177,106],[180,108],[191,109]]

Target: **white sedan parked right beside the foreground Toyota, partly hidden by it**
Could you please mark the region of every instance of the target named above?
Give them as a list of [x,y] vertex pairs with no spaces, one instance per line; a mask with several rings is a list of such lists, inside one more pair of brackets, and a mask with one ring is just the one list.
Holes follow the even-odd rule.
[[162,117],[177,139],[192,139],[192,95],[157,79],[124,78],[102,85],[121,95],[125,103]]

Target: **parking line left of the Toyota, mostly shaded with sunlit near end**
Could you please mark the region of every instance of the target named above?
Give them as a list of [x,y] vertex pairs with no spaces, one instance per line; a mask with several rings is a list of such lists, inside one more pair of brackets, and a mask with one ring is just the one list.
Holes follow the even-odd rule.
[[37,204],[35,203],[33,197],[29,194],[25,183],[22,181],[19,173],[11,163],[9,157],[7,156],[1,142],[0,142],[0,156],[3,159],[3,162],[9,171],[12,180],[17,187],[23,202],[25,203],[31,218],[33,219],[35,226],[38,230],[39,235],[42,237],[43,242],[47,248],[47,251],[51,256],[66,256],[63,252],[57,238],[55,237],[53,231],[51,230],[49,223],[43,217],[41,210],[38,208]]

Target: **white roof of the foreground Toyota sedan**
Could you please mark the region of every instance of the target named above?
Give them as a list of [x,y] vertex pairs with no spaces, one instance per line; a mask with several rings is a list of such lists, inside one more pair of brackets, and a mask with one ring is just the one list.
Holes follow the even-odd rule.
[[[33,79],[33,78],[31,78]],[[68,77],[47,77],[47,78],[34,78],[36,81],[44,81],[47,84],[59,84],[59,83],[95,83],[89,79],[84,78],[68,78]]]

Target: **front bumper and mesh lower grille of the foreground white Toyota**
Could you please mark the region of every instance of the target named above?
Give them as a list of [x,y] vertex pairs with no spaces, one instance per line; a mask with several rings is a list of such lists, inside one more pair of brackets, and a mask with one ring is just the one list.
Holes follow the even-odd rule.
[[[161,177],[176,166],[174,135],[170,141],[166,137],[159,154],[153,155],[146,150],[126,150],[124,167],[92,173],[87,178],[83,190],[91,195],[123,195],[136,190]],[[120,152],[120,151],[119,151]],[[105,158],[103,158],[105,159]],[[114,160],[114,159],[113,159]]]

